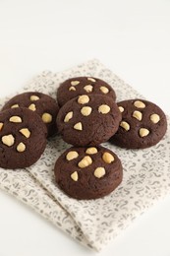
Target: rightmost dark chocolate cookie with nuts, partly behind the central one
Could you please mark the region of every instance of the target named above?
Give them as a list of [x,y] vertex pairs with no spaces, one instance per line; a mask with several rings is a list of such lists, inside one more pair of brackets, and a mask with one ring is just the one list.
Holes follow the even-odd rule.
[[144,149],[157,144],[167,129],[164,112],[144,99],[118,102],[122,121],[111,142],[127,149]]

